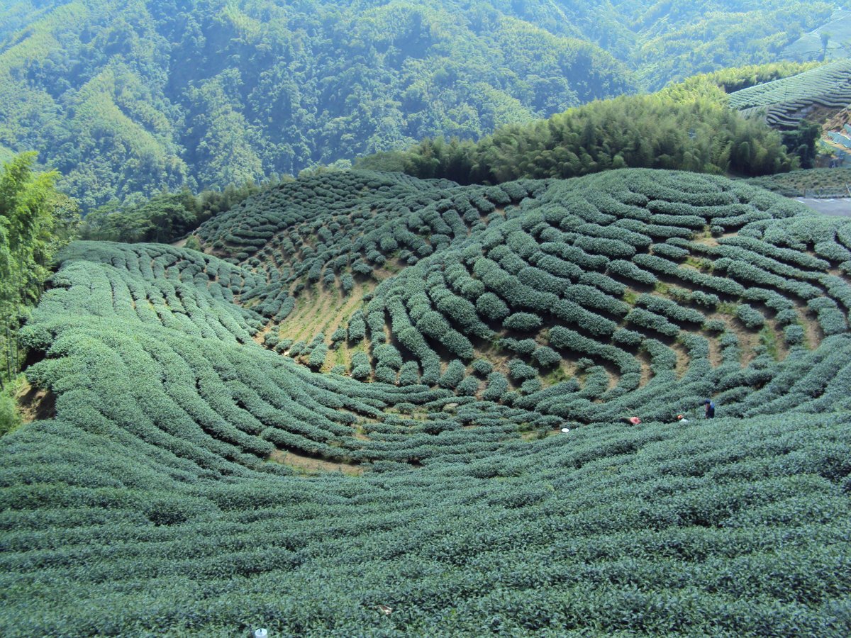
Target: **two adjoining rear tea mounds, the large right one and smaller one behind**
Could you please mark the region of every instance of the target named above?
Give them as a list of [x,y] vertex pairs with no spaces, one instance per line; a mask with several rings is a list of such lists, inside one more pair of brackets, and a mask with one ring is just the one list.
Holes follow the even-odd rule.
[[[243,301],[266,299],[254,308],[273,326],[298,303],[288,291],[398,271],[351,316],[348,343],[367,339],[374,379],[419,373],[460,402],[590,423],[673,419],[710,394],[728,414],[813,411],[846,391],[823,368],[845,367],[851,346],[851,223],[728,179],[618,171],[448,188],[327,174],[198,234],[254,264],[268,283]],[[496,375],[476,379],[477,358]],[[369,361],[349,370],[364,379]]]

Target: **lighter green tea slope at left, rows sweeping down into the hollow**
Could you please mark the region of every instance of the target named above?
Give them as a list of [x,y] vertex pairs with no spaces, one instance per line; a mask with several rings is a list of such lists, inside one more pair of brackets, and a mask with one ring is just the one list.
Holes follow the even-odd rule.
[[[28,377],[60,394],[62,419],[106,426],[134,414],[134,435],[178,446],[180,459],[164,462],[181,475],[195,465],[216,477],[271,470],[262,461],[276,447],[350,464],[420,462],[445,453],[431,445],[434,436],[460,428],[439,412],[454,401],[449,390],[311,374],[257,347],[260,316],[233,303],[258,286],[254,273],[156,244],[77,242],[63,256],[28,332],[47,359]],[[417,419],[383,412],[400,403]],[[494,442],[514,436],[519,423],[557,422],[508,407],[493,420]],[[146,436],[145,427],[162,431]],[[400,436],[404,449],[391,444]]]

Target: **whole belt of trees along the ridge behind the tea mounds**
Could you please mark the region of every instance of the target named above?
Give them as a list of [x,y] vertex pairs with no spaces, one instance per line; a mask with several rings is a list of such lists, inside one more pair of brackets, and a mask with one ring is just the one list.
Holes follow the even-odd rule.
[[[406,151],[356,161],[360,168],[442,177],[462,184],[495,184],[521,177],[574,177],[610,168],[674,168],[703,173],[775,174],[809,168],[816,124],[774,133],[759,117],[729,109],[728,93],[765,86],[781,77],[807,76],[820,63],[745,66],[694,76],[653,95],[595,101],[547,120],[507,125],[477,142],[423,140]],[[338,168],[319,166],[301,174]],[[246,197],[292,180],[247,180],[193,196],[180,191],[113,199],[86,215],[82,236],[117,242],[172,242]]]

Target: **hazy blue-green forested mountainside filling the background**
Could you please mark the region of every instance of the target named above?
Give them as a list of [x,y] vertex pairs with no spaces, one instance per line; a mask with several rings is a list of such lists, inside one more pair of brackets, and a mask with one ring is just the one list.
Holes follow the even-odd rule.
[[589,100],[773,61],[822,2],[0,4],[0,154],[92,208],[477,138]]

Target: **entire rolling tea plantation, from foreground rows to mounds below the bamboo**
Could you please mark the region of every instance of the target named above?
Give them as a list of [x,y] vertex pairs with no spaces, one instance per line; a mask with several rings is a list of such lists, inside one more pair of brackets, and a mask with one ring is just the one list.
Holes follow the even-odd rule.
[[340,172],[195,236],[25,328],[2,635],[851,635],[851,220]]

